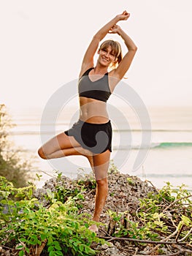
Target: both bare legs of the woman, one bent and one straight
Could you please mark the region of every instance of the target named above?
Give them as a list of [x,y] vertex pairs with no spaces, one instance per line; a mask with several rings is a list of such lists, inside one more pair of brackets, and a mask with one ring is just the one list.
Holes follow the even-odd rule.
[[[99,222],[101,211],[107,198],[108,184],[107,171],[110,164],[110,151],[93,155],[91,151],[84,149],[74,138],[69,138],[64,133],[50,139],[41,148],[39,148],[39,156],[43,159],[53,159],[72,155],[82,155],[88,158],[96,177],[96,203],[93,220]],[[91,225],[90,230],[97,231],[96,225]]]

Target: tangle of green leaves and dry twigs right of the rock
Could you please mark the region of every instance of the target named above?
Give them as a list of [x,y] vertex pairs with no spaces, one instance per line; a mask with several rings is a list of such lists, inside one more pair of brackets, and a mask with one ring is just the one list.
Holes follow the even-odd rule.
[[[131,180],[128,179],[129,181]],[[177,233],[180,239],[185,238],[190,242],[192,239],[191,197],[185,185],[182,184],[174,189],[167,182],[166,186],[158,190],[158,193],[150,192],[148,197],[140,199],[135,217],[128,211],[122,213],[107,211],[110,219],[115,222],[115,231],[112,236],[158,241],[162,236],[173,236],[172,234]]]

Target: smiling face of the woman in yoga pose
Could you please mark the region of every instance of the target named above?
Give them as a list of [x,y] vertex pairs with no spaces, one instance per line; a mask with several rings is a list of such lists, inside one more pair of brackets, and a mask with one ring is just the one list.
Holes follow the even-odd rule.
[[111,46],[99,50],[99,63],[102,66],[110,66],[110,64],[115,61],[115,53],[113,52]]

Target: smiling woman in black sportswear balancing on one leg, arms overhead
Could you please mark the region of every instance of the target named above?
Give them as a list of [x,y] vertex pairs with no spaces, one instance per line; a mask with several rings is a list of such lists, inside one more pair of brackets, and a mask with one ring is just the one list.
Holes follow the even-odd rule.
[[[53,159],[72,155],[88,158],[96,177],[96,202],[93,221],[99,222],[101,211],[107,198],[107,170],[110,162],[112,129],[107,115],[107,99],[126,74],[134,59],[137,46],[117,25],[120,20],[127,20],[129,13],[124,11],[110,20],[93,37],[85,56],[79,78],[80,118],[71,129],[52,138],[39,148],[39,156]],[[94,67],[93,57],[99,43],[107,33],[118,34],[128,49],[122,59],[120,44],[113,40],[104,41]],[[108,69],[110,72],[107,72]],[[89,227],[97,232],[96,225]]]

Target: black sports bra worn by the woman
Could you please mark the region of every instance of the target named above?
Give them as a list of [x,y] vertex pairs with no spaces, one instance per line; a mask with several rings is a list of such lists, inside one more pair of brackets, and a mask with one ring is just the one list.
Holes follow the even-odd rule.
[[108,82],[108,73],[96,81],[91,81],[88,73],[93,69],[91,67],[82,75],[78,83],[78,91],[80,97],[99,99],[102,102],[107,102],[111,95],[110,86]]

